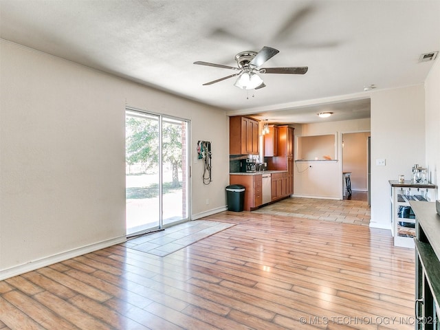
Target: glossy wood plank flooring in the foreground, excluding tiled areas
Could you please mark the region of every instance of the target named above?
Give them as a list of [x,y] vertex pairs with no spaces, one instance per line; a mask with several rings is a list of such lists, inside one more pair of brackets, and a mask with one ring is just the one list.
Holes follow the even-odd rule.
[[0,281],[0,329],[414,329],[414,250],[388,230],[221,212],[160,257],[115,245]]

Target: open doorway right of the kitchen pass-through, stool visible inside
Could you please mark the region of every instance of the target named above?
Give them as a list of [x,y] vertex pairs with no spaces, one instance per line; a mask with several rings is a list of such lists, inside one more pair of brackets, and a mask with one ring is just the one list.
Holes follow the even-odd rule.
[[349,172],[351,196],[344,192],[344,199],[369,201],[370,181],[370,132],[342,134],[342,172]]

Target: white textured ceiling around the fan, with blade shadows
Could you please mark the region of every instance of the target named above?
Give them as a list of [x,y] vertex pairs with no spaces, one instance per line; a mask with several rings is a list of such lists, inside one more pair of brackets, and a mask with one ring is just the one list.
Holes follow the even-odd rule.
[[[230,113],[271,113],[274,122],[314,121],[321,101],[333,104],[335,114],[344,109],[339,118],[368,117],[366,102],[358,102],[369,98],[365,85],[423,83],[432,62],[418,63],[419,56],[440,50],[439,0],[0,0],[0,6],[2,39]],[[236,66],[236,53],[263,46],[280,51],[263,67],[309,72],[265,74],[267,87],[247,92],[233,86],[234,78],[202,86],[233,72],[192,64]],[[356,102],[335,105],[351,98]]]

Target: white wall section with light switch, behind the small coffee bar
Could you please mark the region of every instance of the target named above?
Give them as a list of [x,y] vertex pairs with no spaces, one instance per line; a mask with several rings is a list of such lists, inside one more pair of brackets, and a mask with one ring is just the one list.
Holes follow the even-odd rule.
[[424,98],[423,85],[371,94],[371,227],[391,230],[388,180],[410,179],[414,164],[426,166]]

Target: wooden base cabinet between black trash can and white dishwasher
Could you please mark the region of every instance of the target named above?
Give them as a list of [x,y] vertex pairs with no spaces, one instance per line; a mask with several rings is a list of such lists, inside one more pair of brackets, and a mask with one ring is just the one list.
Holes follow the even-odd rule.
[[250,211],[263,203],[262,175],[233,175],[229,176],[230,184],[245,186],[245,200],[243,210]]

